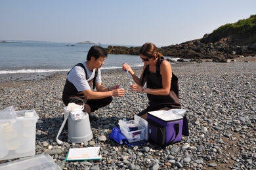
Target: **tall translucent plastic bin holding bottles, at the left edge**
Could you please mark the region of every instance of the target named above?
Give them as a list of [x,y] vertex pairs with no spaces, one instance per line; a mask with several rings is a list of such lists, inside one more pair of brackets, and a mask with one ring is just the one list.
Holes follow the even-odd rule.
[[35,125],[38,115],[35,110],[11,112],[12,116],[0,116],[0,161],[35,155]]

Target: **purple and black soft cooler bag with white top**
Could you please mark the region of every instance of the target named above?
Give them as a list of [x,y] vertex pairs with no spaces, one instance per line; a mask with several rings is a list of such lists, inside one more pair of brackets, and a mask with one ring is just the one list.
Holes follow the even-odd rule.
[[[177,109],[175,110],[178,111]],[[172,111],[175,110],[173,109]],[[186,112],[184,109],[179,111],[183,114]],[[148,112],[148,138],[162,145],[178,143],[182,138],[182,114],[165,113],[167,113],[166,110]]]

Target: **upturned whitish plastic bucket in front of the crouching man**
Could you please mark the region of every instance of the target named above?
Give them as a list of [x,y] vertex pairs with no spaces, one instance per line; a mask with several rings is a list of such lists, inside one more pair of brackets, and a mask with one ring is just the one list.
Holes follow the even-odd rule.
[[68,140],[72,143],[83,143],[93,139],[89,114],[82,112],[82,118],[73,120],[68,116]]

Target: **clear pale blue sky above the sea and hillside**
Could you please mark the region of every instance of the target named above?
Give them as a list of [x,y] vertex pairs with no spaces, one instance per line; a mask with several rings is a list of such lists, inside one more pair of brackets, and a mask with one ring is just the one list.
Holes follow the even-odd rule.
[[252,14],[255,0],[1,0],[0,39],[169,46]]

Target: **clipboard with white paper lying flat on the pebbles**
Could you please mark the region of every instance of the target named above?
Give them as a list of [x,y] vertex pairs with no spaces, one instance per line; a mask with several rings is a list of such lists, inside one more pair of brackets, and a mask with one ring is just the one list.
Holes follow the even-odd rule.
[[70,148],[65,158],[66,161],[101,160],[102,149],[100,146],[87,148]]

